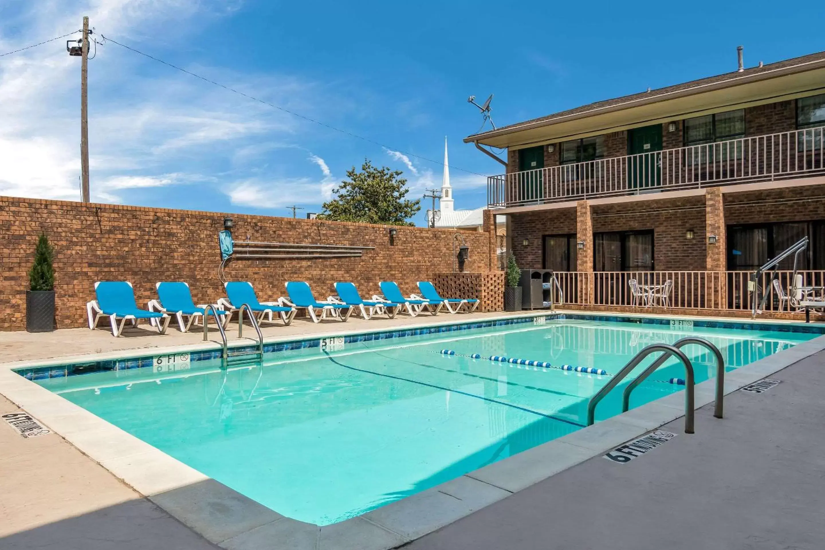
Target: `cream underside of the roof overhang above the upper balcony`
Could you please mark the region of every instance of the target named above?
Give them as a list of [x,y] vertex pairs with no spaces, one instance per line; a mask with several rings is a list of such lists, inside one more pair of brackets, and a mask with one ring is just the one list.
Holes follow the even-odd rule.
[[464,143],[523,148],[823,92],[825,59],[818,59],[673,92],[652,93],[649,97],[636,97],[551,120],[507,126],[468,136],[464,138]]

